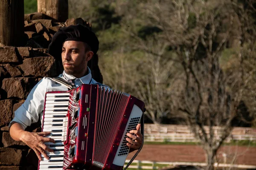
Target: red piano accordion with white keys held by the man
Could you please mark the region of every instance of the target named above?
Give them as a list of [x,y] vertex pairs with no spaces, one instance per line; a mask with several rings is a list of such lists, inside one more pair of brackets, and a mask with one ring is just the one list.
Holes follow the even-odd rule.
[[42,131],[55,143],[38,170],[121,170],[129,153],[126,133],[136,129],[145,104],[126,93],[83,84],[70,91],[47,92]]

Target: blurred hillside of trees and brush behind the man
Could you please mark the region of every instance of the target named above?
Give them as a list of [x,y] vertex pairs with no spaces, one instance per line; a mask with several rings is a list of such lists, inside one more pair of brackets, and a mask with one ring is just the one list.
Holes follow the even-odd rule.
[[145,101],[146,122],[253,125],[252,0],[70,0],[69,17],[92,23],[104,83]]

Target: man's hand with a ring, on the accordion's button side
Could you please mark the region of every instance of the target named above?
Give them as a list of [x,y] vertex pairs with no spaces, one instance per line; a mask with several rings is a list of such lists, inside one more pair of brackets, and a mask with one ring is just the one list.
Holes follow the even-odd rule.
[[[134,135],[132,133],[134,133]],[[129,133],[126,133],[126,135],[131,138],[126,138],[126,140],[129,142],[127,143],[127,146],[133,150],[139,149],[142,145],[143,138],[142,134],[140,133],[140,124],[137,125],[136,130],[131,130]]]

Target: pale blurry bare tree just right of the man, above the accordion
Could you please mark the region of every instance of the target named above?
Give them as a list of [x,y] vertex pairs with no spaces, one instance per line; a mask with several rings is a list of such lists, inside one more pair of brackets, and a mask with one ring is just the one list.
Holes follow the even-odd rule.
[[161,41],[137,40],[140,41],[140,48],[150,48],[154,54],[149,51],[138,53],[137,57],[125,54],[126,42],[120,44],[112,56],[101,58],[99,64],[107,85],[142,99],[147,105],[146,116],[160,124],[174,103],[171,99],[171,93],[175,93],[174,80],[177,79],[174,62],[168,57],[161,57],[166,48],[166,44]]

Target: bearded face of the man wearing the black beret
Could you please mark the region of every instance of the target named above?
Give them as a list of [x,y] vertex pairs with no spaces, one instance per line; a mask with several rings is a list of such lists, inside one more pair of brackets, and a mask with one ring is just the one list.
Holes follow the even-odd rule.
[[85,49],[84,42],[65,41],[61,53],[65,72],[77,78],[83,77],[87,71],[87,62],[92,57],[91,53],[93,52]]

